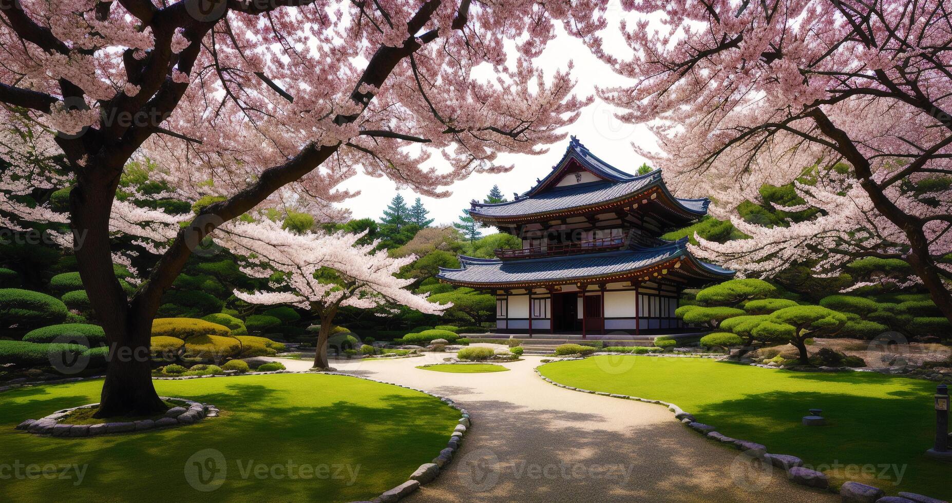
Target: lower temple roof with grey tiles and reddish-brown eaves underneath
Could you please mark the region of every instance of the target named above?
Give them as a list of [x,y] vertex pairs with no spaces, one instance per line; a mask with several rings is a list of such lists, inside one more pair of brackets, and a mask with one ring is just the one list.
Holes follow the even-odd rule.
[[534,258],[519,261],[460,256],[459,269],[441,267],[437,279],[474,288],[541,286],[574,282],[664,281],[704,284],[723,281],[734,271],[699,261],[687,250],[687,240],[652,248]]

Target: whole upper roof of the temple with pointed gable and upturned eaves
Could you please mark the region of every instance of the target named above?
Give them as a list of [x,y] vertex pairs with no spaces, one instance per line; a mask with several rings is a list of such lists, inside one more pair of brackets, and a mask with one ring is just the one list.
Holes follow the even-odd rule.
[[[585,178],[583,173],[587,173]],[[564,181],[575,174],[575,184]],[[570,182],[570,180],[569,180]],[[635,176],[605,163],[582,145],[576,137],[565,149],[565,155],[544,179],[508,203],[471,203],[469,214],[483,222],[514,222],[561,214],[581,214],[586,210],[604,209],[612,204],[637,202],[642,196],[660,197],[664,207],[679,222],[703,217],[710,203],[706,198],[674,197],[664,185],[661,169]]]

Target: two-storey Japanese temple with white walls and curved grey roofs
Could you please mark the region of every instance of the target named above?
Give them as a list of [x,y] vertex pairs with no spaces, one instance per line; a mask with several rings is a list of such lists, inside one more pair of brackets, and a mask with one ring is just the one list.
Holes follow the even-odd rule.
[[681,328],[684,288],[730,279],[700,261],[686,238],[659,238],[707,213],[704,199],[668,192],[660,169],[633,176],[606,164],[573,136],[544,179],[508,203],[477,203],[476,221],[522,238],[495,259],[460,257],[437,278],[496,294],[496,331],[638,335]]

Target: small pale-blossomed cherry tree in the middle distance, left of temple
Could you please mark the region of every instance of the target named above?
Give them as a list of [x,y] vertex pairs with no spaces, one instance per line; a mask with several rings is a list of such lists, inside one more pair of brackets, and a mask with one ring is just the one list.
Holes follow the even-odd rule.
[[235,297],[254,304],[289,304],[307,309],[321,319],[314,367],[329,368],[327,339],[341,306],[371,309],[381,305],[403,305],[440,315],[451,303],[438,304],[405,288],[414,280],[394,276],[416,256],[393,259],[387,250],[374,251],[378,242],[357,244],[366,232],[349,234],[296,234],[279,222],[228,222],[215,233],[215,242],[244,257],[242,271],[254,278],[273,278],[271,291]]

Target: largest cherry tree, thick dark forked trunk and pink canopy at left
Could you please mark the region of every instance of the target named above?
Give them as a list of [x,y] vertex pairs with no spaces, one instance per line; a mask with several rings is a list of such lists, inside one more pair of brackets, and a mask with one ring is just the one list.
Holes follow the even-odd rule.
[[[353,194],[336,187],[357,169],[441,197],[509,169],[499,152],[544,152],[589,100],[568,70],[533,60],[556,23],[596,45],[604,11],[595,0],[0,0],[0,122],[30,136],[0,142],[12,164],[0,203],[32,222],[48,208],[12,207],[19,184],[72,186],[92,309],[113,354],[137,354],[163,292],[225,222],[288,203],[339,217]],[[429,167],[434,154],[446,169]],[[115,196],[124,166],[146,157],[177,197],[216,199],[174,226],[127,299],[110,238],[122,232],[113,215],[136,211]],[[110,360],[98,416],[163,408],[148,361]]]

